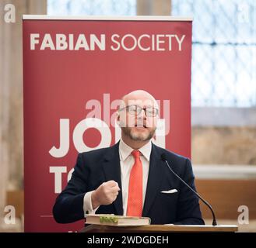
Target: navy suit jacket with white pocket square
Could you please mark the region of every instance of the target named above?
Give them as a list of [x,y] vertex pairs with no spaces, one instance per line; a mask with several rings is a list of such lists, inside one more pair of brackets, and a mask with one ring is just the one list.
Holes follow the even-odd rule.
[[[84,195],[103,182],[114,180],[119,188],[122,187],[118,148],[119,143],[109,148],[79,153],[72,178],[54,204],[56,222],[84,219]],[[170,172],[167,164],[161,160],[162,153],[166,154],[170,167],[195,190],[190,160],[153,144],[142,216],[149,217],[152,224],[204,225],[198,197]],[[177,189],[177,192],[161,193],[170,189]],[[112,204],[100,205],[96,213],[123,215],[121,191]]]

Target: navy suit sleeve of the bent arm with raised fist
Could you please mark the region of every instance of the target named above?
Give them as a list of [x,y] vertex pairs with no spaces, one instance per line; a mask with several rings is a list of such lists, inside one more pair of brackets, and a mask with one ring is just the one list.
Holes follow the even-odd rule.
[[69,223],[84,219],[83,199],[87,192],[89,174],[89,167],[82,154],[79,154],[72,177],[54,204],[53,215],[56,222]]

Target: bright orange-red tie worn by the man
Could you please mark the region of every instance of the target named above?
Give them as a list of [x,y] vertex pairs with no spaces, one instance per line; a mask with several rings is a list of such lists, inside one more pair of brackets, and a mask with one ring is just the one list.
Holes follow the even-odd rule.
[[132,167],[128,191],[128,216],[142,216],[142,161],[139,159],[139,150],[133,150],[135,164]]

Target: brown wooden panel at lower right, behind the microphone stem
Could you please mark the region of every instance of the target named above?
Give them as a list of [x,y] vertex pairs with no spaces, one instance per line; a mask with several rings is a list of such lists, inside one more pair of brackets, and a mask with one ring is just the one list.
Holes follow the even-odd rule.
[[[256,219],[256,180],[197,180],[196,188],[212,205],[217,219],[237,219],[240,205],[249,208],[249,219]],[[200,201],[203,218],[212,214]]]

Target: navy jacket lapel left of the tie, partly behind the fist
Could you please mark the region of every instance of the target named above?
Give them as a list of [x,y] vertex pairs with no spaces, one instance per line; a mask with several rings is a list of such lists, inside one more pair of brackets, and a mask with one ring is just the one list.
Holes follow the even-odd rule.
[[106,181],[116,181],[119,188],[121,189],[113,204],[114,208],[116,209],[117,215],[123,215],[119,142],[116,143],[114,146],[110,147],[110,150],[108,150],[108,153],[105,155],[103,160],[103,171],[106,177]]

